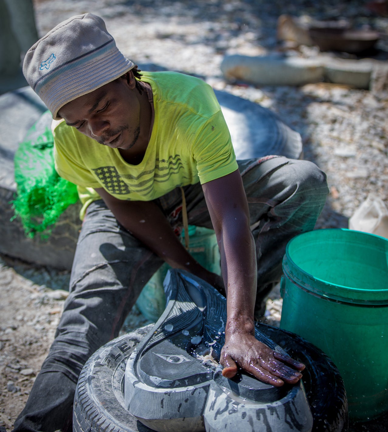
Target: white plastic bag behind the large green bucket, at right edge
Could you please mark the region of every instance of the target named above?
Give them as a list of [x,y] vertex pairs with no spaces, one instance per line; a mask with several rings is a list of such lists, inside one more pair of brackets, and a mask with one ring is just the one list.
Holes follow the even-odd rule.
[[383,200],[369,194],[349,219],[349,229],[388,238],[388,209]]

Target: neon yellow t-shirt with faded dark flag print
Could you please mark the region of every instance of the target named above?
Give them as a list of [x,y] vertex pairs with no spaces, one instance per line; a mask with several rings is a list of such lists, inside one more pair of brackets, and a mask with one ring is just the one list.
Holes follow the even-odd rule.
[[213,89],[176,72],[142,72],[153,91],[153,130],[138,165],[63,120],[53,122],[58,174],[78,186],[83,210],[103,187],[119,200],[150,201],[175,187],[201,184],[238,168],[228,127]]

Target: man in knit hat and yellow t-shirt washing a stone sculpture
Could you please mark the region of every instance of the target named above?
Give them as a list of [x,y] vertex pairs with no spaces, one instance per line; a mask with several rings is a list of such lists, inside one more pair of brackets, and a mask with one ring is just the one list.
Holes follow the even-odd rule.
[[[70,295],[15,431],[71,429],[83,364],[118,335],[163,261],[226,293],[224,376],[239,366],[275,386],[297,382],[304,365],[254,338],[254,314],[279,280],[289,239],[314,227],[325,175],[284,157],[238,164],[210,86],[179,73],[140,75],[92,14],[51,30],[23,72],[53,114],[56,169],[78,185],[83,227]],[[214,227],[222,278],[181,245],[185,216]]]

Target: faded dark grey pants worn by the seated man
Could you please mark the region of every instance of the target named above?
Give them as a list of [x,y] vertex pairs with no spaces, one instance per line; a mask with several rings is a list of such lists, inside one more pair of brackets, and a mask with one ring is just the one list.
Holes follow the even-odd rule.
[[[283,156],[239,161],[256,244],[256,311],[280,279],[287,242],[314,228],[324,206],[326,176],[312,162]],[[199,184],[184,187],[189,224],[212,228]],[[172,227],[181,225],[181,191],[156,200]],[[64,305],[51,346],[14,431],[72,430],[73,398],[86,360],[118,332],[143,286],[162,264],[118,224],[102,200],[87,211]],[[262,312],[262,310],[261,310]]]

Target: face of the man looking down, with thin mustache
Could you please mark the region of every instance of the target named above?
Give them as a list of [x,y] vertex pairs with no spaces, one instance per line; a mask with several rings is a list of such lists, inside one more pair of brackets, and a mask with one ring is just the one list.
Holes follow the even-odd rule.
[[58,114],[100,144],[130,149],[140,133],[140,93],[133,74],[126,76],[68,102]]

